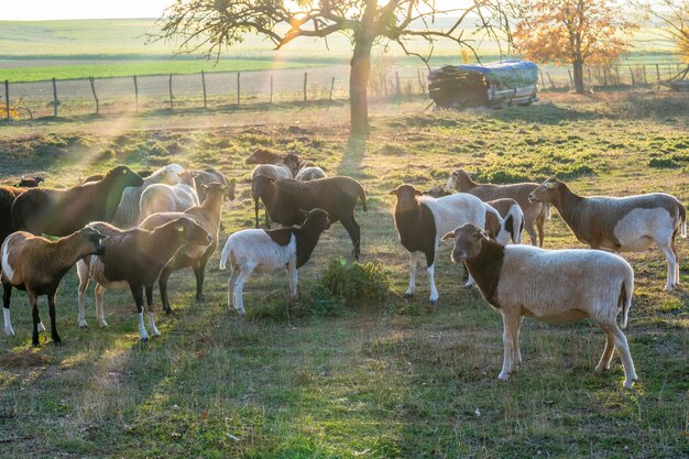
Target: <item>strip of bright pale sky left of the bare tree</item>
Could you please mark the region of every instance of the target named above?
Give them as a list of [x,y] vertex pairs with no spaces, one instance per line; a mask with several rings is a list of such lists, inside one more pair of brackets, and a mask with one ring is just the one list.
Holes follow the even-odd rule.
[[174,0],[0,0],[0,21],[160,18]]

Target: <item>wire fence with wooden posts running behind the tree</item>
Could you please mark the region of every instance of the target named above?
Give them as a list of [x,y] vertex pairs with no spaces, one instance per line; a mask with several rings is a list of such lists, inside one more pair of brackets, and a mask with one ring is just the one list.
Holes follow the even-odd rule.
[[[653,87],[686,67],[681,63],[586,67],[583,77],[584,85],[597,90]],[[426,67],[379,68],[374,65],[369,92],[372,98],[385,99],[426,95],[427,75]],[[349,98],[348,66],[3,83],[0,118],[7,120],[128,111],[231,109],[252,105],[328,105]],[[540,66],[538,83],[540,90],[571,89],[571,69]]]

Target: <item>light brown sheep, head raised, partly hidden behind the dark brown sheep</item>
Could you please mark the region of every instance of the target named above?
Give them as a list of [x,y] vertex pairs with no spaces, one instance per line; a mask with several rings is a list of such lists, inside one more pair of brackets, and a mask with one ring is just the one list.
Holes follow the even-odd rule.
[[175,258],[163,269],[158,278],[161,288],[161,300],[163,309],[167,314],[172,314],[169,300],[167,298],[167,280],[173,270],[183,267],[193,267],[196,276],[196,299],[204,300],[204,277],[206,264],[218,247],[220,231],[220,216],[222,214],[222,204],[227,194],[227,186],[218,182],[211,182],[208,185],[201,185],[206,192],[206,199],[200,206],[190,207],[184,212],[162,212],[153,214],[141,222],[139,228],[152,230],[167,221],[181,217],[189,217],[204,228],[212,238],[210,245],[190,245],[181,249]]

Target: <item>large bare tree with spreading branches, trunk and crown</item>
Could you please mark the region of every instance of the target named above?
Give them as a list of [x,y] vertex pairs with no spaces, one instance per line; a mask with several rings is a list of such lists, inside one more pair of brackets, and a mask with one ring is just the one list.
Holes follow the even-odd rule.
[[[451,40],[471,47],[473,36],[464,36],[462,24],[477,24],[477,31],[497,39],[500,25],[506,26],[499,0],[470,0],[467,7],[436,8],[435,0],[176,0],[160,19],[156,39],[179,40],[182,52],[204,51],[209,57],[241,43],[245,34],[269,37],[278,50],[299,36],[327,39],[346,34],[352,43],[349,95],[351,134],[368,136],[367,84],[371,70],[371,50],[381,41],[396,43],[407,55],[428,62],[437,40]],[[448,4],[453,4],[448,2]],[[452,18],[447,28],[437,18]],[[426,51],[408,46],[423,40]],[[475,55],[475,52],[474,52]]]

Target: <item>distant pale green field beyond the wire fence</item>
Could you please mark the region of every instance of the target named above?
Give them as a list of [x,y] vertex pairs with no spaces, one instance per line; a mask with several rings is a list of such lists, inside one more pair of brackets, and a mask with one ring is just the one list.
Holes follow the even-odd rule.
[[[448,28],[450,23],[448,19],[438,18],[435,26]],[[468,22],[464,36],[470,37],[473,30],[473,24]],[[328,43],[300,37],[278,52],[271,42],[248,35],[241,44],[223,50],[222,58],[216,64],[215,59],[206,61],[198,53],[175,56],[176,43],[149,39],[156,33],[158,28],[153,19],[0,21],[0,81],[341,65],[351,57],[351,43],[344,35],[331,35]],[[622,64],[677,61],[670,48],[657,42],[652,28],[643,28],[633,41],[633,52],[624,56]],[[477,45],[478,41],[472,43]],[[407,47],[422,54],[427,52],[420,41],[411,42]],[[383,48],[378,46],[376,53],[383,53]],[[489,62],[500,56],[500,47],[491,41],[481,41],[478,52]],[[394,44],[386,47],[385,53],[395,65],[423,65],[418,58],[405,56]],[[447,41],[435,44],[434,56],[431,66],[460,62],[457,45]]]

